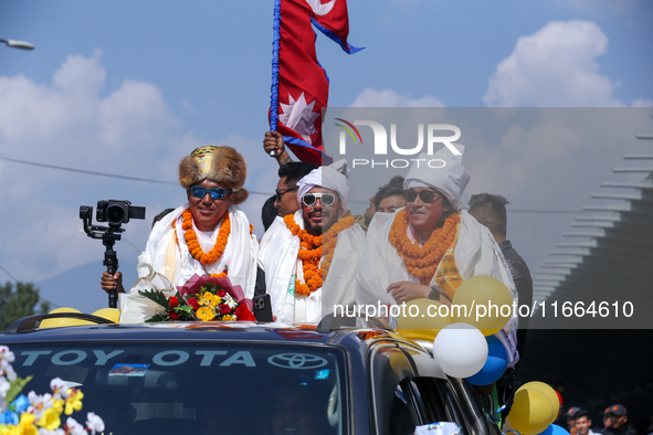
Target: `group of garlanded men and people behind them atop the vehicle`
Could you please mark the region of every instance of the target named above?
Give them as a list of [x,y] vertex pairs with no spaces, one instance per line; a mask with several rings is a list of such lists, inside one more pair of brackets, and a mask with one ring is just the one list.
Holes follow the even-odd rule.
[[[389,307],[415,298],[450,305],[461,283],[476,275],[499,279],[514,301],[530,300],[528,268],[506,240],[507,201],[483,193],[463,209],[470,173],[462,156],[443,148],[431,156],[444,160],[443,168],[413,165],[378,188],[364,214],[354,214],[346,160],[293,161],[274,131],[263,148],[280,166],[275,195],[262,209],[263,236],[256,240],[239,208],[247,199],[243,156],[227,146],[198,148],[179,165],[188,203],[157,216],[138,257],[139,279],[181,286],[193,275],[228,277],[247,298],[270,295],[275,321],[302,323],[319,322],[335,306]],[[126,291],[119,273],[105,272],[101,284]],[[517,319],[503,331],[514,361],[516,331]]]

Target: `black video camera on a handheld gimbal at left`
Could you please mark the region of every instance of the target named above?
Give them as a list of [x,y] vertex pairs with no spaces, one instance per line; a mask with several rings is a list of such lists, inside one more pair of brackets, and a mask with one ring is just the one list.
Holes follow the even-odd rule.
[[[106,272],[115,274],[118,272],[118,257],[114,251],[114,243],[120,240],[120,233],[125,230],[124,223],[130,219],[145,219],[145,208],[134,206],[129,201],[97,201],[95,219],[97,222],[107,222],[109,226],[93,225],[93,208],[80,206],[80,219],[84,222],[84,232],[91,238],[102,238],[105,246],[104,262]],[[109,293],[109,308],[117,308],[117,290]]]

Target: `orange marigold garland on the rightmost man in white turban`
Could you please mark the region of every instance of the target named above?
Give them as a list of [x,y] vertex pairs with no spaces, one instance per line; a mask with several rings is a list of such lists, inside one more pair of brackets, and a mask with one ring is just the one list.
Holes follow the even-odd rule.
[[394,216],[388,240],[403,259],[408,273],[428,286],[435,275],[440,261],[455,238],[460,221],[459,213],[449,215],[444,225],[441,229],[435,229],[429,241],[420,247],[418,242],[413,243],[408,238],[408,214],[406,210],[402,210]]

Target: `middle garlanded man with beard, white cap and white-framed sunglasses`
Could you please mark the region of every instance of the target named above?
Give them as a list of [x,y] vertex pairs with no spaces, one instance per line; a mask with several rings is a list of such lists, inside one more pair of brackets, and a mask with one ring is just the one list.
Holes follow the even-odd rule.
[[313,170],[297,187],[302,208],[270,226],[259,269],[277,321],[317,323],[334,305],[354,304],[365,233],[343,217],[351,190],[345,160]]

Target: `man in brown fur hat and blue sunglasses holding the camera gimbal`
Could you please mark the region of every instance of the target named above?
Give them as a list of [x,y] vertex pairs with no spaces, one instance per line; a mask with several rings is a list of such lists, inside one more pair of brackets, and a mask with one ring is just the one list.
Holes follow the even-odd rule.
[[[154,226],[145,252],[138,257],[138,278],[155,274],[172,286],[193,275],[227,276],[240,285],[245,297],[254,294],[257,243],[238,204],[249,193],[243,157],[231,147],[197,148],[179,163],[179,183],[188,203],[164,216]],[[122,276],[104,273],[102,288],[124,291]]]

